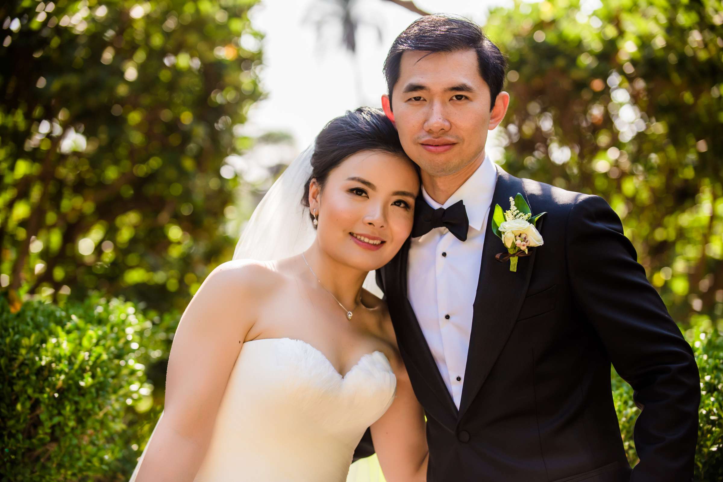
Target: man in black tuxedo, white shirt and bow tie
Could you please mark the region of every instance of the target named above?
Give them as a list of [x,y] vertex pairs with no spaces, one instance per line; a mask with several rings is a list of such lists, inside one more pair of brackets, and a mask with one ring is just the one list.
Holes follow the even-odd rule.
[[[690,346],[602,198],[515,178],[485,155],[508,108],[505,67],[477,25],[443,16],[410,25],[384,66],[382,106],[424,187],[377,284],[427,415],[427,480],[688,482],[700,400]],[[490,216],[517,193],[547,214],[544,244],[510,271]],[[611,363],[642,409],[632,470]]]

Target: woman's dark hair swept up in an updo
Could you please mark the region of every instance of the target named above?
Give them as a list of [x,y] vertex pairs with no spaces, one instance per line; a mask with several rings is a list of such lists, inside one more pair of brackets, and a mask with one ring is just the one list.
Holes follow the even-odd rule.
[[[312,174],[307,179],[301,204],[309,207],[309,183],[317,180],[323,190],[329,172],[357,152],[376,151],[397,154],[409,159],[399,141],[399,134],[381,109],[360,107],[347,110],[346,114],[333,118],[317,135],[312,154]],[[419,167],[409,160],[414,169]],[[309,213],[312,219],[314,216]]]

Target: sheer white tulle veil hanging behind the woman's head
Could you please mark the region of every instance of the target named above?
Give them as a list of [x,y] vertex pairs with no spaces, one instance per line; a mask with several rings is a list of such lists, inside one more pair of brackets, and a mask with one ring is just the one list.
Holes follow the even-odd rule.
[[[314,143],[304,149],[279,176],[254,209],[234,250],[234,260],[278,260],[298,255],[312,245],[316,230],[309,208],[301,204],[312,175]],[[371,271],[364,288],[382,297]]]

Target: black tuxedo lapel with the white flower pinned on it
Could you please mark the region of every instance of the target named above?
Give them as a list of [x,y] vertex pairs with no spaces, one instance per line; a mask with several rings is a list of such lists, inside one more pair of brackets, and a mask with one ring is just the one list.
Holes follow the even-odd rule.
[[[501,167],[497,169],[497,183],[492,196],[492,205],[487,216],[487,226],[482,248],[482,263],[479,269],[477,294],[474,299],[472,328],[469,337],[469,351],[462,387],[462,398],[458,421],[469,408],[492,366],[505,346],[515,325],[515,320],[527,293],[527,286],[535,260],[536,249],[530,256],[519,258],[517,271],[510,271],[510,262],[500,263],[497,253],[506,253],[502,240],[492,232],[492,213],[495,204],[509,209],[510,196],[521,193],[527,198],[522,180],[509,175]],[[534,210],[534,206],[531,206]],[[541,222],[542,219],[539,222]]]

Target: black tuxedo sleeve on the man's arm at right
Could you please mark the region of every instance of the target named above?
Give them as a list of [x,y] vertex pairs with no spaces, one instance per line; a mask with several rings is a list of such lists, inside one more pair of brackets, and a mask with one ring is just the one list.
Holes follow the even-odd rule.
[[637,262],[623,225],[599,196],[568,214],[565,250],[573,299],[633,387],[640,463],[631,482],[691,481],[700,378],[690,345]]

